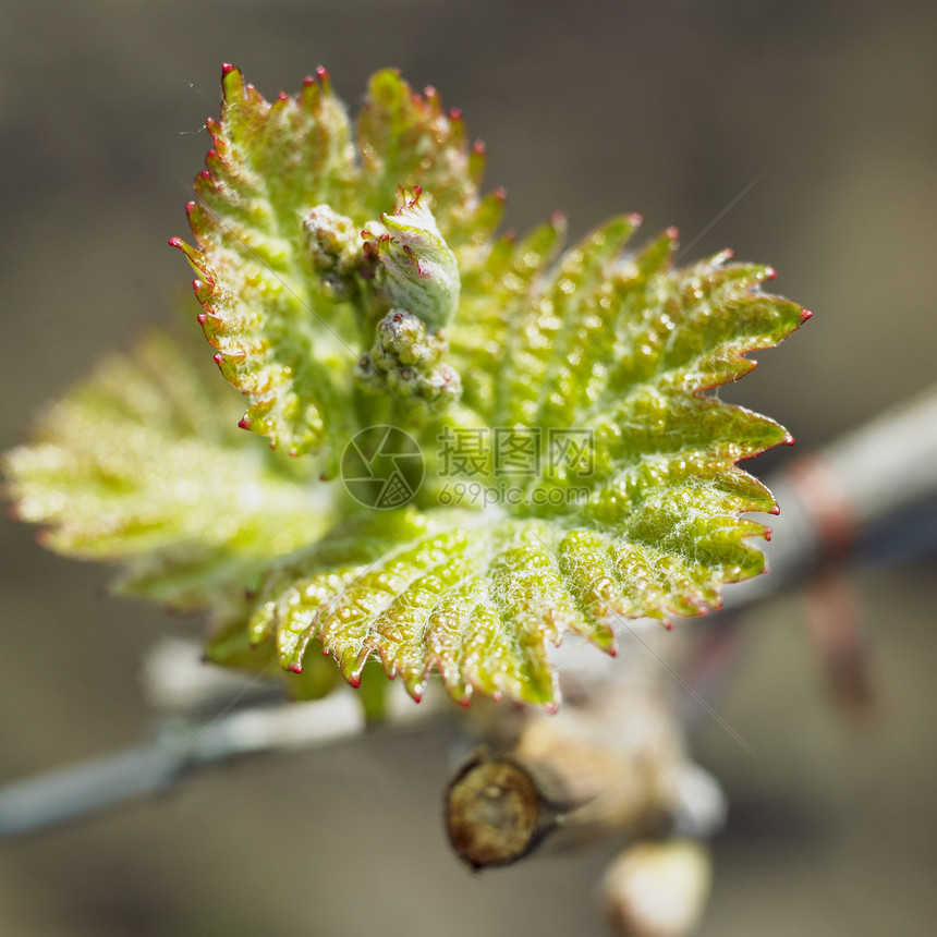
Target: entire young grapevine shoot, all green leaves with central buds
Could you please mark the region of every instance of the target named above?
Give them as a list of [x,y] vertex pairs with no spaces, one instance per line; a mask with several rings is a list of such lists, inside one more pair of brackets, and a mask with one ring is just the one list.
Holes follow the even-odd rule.
[[498,235],[484,147],[392,71],[354,126],[325,70],[272,102],[231,65],[222,86],[194,244],[171,243],[246,412],[169,338],[110,355],[7,457],[50,547],[206,610],[209,659],[276,662],[297,695],[375,656],[417,698],[438,671],[461,703],[549,706],[564,633],[612,652],[622,617],[762,572],[742,515],[777,507],[737,462],[789,437],[706,391],[808,315],[769,268],[674,269],[672,231],[631,246],[636,216],[565,252],[561,216]]

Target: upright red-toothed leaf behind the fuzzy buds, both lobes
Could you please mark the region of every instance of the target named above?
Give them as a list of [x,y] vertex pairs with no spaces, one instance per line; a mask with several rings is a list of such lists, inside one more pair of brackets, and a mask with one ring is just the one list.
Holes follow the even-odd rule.
[[[222,89],[220,120],[207,123],[215,146],[195,181],[198,202],[188,205],[196,246],[171,243],[198,272],[199,321],[216,363],[251,401],[242,427],[293,453],[323,452],[331,475],[352,435],[344,402],[369,346],[361,326],[373,320],[366,308],[373,273],[363,255],[337,257],[343,266],[337,290],[305,219],[328,206],[350,228],[379,216],[397,224],[398,190],[419,179],[425,214],[431,219],[435,211],[441,238],[467,256],[498,223],[503,196],[479,199],[484,154],[468,148],[461,118],[443,114],[435,92],[414,94],[393,72],[372,81],[358,126],[360,165],[348,114],[324,70],[295,98],[281,95],[272,104],[231,66]],[[434,256],[448,270],[454,258],[441,238]],[[448,270],[447,283],[458,301],[458,270]]]

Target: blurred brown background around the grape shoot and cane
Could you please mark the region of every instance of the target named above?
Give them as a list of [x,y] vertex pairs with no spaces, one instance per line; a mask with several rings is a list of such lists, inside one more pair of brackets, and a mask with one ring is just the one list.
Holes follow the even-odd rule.
[[[579,235],[640,210],[648,236],[698,238],[693,257],[731,245],[770,263],[816,315],[732,399],[801,450],[823,445],[935,379],[935,49],[925,2],[5,0],[0,446],[101,351],[180,300],[194,316],[166,240],[186,233],[222,61],[268,97],[325,64],[351,105],[399,66],[487,142],[512,227],[564,208]],[[7,521],[0,556],[0,782],[136,742],[139,656],[191,625],[99,599],[104,570]],[[862,730],[829,706],[800,597],[751,617],[720,713],[760,760],[714,722],[697,751],[732,806],[705,937],[933,933],[932,570],[851,575],[879,690]],[[239,766],[0,845],[0,934],[600,934],[610,845],[458,866],[441,741]]]

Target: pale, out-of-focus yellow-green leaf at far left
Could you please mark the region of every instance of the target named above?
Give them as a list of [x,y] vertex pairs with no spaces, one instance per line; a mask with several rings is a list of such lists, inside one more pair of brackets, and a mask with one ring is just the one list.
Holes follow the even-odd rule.
[[46,525],[46,546],[119,563],[117,592],[220,609],[328,524],[321,494],[223,419],[231,403],[153,334],[105,357],[5,455],[5,494]]

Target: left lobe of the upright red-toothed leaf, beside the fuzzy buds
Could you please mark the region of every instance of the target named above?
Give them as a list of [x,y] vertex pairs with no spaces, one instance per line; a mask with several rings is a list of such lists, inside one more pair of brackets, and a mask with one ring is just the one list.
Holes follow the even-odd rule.
[[244,428],[302,454],[343,445],[341,406],[357,355],[354,314],[336,303],[306,245],[304,217],[341,211],[356,175],[348,115],[328,81],[268,104],[226,68],[214,149],[188,205],[199,321],[224,377],[247,394]]

